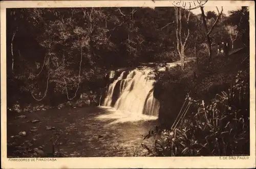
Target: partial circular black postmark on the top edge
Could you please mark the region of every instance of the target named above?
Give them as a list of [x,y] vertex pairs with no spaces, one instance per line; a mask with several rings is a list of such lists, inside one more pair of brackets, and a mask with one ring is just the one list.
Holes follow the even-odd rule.
[[197,0],[197,1],[173,1],[173,5],[183,9],[196,9],[204,5],[208,0]]

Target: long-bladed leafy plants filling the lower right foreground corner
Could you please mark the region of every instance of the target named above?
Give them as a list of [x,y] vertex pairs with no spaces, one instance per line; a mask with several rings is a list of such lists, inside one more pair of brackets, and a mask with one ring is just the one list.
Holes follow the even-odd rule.
[[239,71],[228,91],[208,105],[186,98],[193,108],[178,127],[155,131],[160,135],[155,140],[156,156],[249,155],[248,76]]

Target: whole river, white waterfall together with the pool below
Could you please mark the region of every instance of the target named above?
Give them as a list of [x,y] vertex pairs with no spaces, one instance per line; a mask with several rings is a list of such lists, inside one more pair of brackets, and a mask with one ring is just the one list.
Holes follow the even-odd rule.
[[[111,71],[103,106],[27,112],[26,118],[15,118],[13,114],[8,117],[8,144],[24,147],[34,140],[31,148],[51,152],[51,139],[60,135],[57,148],[63,157],[146,156],[141,143],[152,146],[154,138],[143,140],[142,135],[159,126],[160,105],[153,94],[155,81],[147,79],[152,70],[142,66]],[[29,123],[33,119],[39,119],[39,123]],[[49,125],[55,130],[46,130]],[[37,131],[31,132],[31,128]],[[27,136],[18,136],[20,131],[26,131]],[[13,152],[8,150],[8,156],[16,156]],[[27,152],[20,157],[29,157]]]

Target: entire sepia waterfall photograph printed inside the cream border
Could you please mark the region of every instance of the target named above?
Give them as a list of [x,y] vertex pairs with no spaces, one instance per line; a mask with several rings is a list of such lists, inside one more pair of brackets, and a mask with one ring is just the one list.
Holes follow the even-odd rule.
[[155,3],[5,9],[9,161],[255,155],[248,2]]

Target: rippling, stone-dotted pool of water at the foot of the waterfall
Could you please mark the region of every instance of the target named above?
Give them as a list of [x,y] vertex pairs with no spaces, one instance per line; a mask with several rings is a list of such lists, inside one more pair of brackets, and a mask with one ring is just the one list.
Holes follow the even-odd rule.
[[[146,156],[147,150],[141,146],[142,135],[155,129],[158,120],[153,116],[135,114],[121,113],[114,108],[101,106],[49,109],[37,112],[44,120],[32,124],[38,129],[37,132],[29,132],[32,126],[27,120],[35,119],[35,116],[34,113],[27,113],[27,118],[8,118],[7,138],[9,142],[13,142],[12,135],[28,131],[26,138],[17,137],[15,142],[22,144],[25,140],[36,138],[33,148],[44,146],[44,152],[48,153],[52,152],[51,137],[58,132],[61,133],[59,151],[63,157]],[[56,130],[46,130],[49,125]],[[146,140],[147,145],[153,144],[150,139]]]

